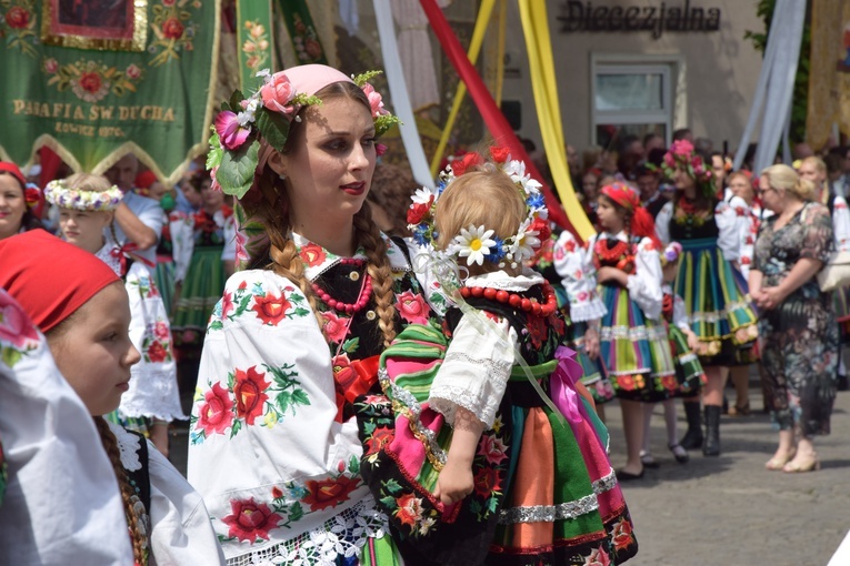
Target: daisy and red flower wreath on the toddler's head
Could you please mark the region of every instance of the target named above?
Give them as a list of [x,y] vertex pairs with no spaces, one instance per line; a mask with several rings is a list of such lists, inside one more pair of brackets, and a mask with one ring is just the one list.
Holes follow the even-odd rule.
[[[526,220],[514,235],[504,240],[484,225],[461,229],[460,234],[447,246],[446,253],[450,256],[466,257],[467,265],[483,265],[483,262],[488,261],[499,267],[510,265],[516,269],[524,260],[531,259],[542,242],[549,239],[549,211],[540,192],[542,185],[526,174],[524,162],[511,160],[507,148],[490,148],[490,155],[500,171],[510,176],[522,195],[526,202]],[[436,189],[417,190],[412,196],[413,203],[408,210],[408,228],[419,245],[434,250],[438,237],[434,230],[437,201],[452,181],[483,162],[480,154],[466,153],[440,173],[440,182]]]

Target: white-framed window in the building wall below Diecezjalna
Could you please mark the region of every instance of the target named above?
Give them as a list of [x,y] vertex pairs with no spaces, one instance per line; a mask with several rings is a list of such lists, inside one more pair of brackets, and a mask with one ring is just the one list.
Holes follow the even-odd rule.
[[648,133],[670,142],[674,62],[593,58],[590,142],[617,149],[627,135]]

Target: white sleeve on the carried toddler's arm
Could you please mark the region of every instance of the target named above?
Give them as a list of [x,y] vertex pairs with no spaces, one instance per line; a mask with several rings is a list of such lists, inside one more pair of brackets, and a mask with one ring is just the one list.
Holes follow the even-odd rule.
[[516,345],[517,333],[504,319],[493,323],[483,313],[474,319],[464,314],[431,384],[431,407],[453,424],[461,406],[490,428],[508,386]]

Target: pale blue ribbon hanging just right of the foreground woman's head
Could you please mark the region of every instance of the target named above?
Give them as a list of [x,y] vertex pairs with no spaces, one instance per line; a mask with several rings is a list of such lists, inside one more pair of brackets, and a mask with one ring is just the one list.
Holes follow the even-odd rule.
[[401,131],[401,141],[404,143],[404,150],[408,153],[410,170],[417,183],[424,186],[433,186],[436,175],[432,175],[428,170],[428,158],[424,154],[422,139],[419,137],[417,120],[413,115],[413,108],[410,104],[408,84],[404,81],[404,71],[401,68],[399,46],[396,40],[396,24],[392,21],[390,0],[372,0],[372,4],[378,22],[378,37],[381,40],[383,68],[387,73],[387,82],[390,87],[390,97],[392,97],[392,108],[396,110],[396,115],[401,120],[399,130]]

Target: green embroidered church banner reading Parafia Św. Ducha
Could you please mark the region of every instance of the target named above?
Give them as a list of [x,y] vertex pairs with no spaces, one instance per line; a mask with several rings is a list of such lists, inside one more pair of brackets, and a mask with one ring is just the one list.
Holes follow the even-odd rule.
[[176,181],[206,151],[220,0],[0,0],[0,158]]

